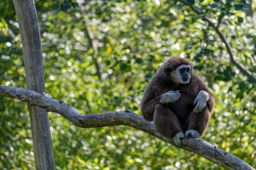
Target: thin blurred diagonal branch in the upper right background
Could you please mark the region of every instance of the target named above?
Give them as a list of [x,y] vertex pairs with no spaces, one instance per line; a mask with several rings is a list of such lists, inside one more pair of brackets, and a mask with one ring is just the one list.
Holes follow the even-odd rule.
[[217,34],[220,36],[222,42],[224,42],[226,48],[227,48],[227,52],[230,55],[230,61],[235,64],[240,71],[247,75],[253,82],[256,83],[256,77],[253,76],[252,72],[250,72],[246,67],[244,67],[244,65],[242,65],[241,63],[237,62],[234,59],[234,54],[233,54],[233,50],[231,48],[230,43],[227,41],[227,39],[224,37],[224,34],[218,29],[218,25],[215,26],[214,23],[212,23],[212,21],[209,19],[209,17],[205,16],[198,8],[193,7],[190,3],[188,3],[186,0],[179,0],[181,3],[189,6],[193,11],[195,11],[198,16],[200,15],[200,17],[202,17],[204,20],[206,20],[210,26],[212,26],[214,28],[214,30],[217,32]]

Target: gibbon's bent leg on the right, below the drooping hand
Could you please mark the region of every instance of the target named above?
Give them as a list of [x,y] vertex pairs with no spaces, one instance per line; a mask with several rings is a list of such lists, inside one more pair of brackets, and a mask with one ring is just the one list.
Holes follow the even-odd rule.
[[207,106],[198,113],[190,113],[185,121],[185,125],[188,125],[188,130],[185,133],[185,137],[199,138],[202,136],[209,124],[210,119],[211,113]]

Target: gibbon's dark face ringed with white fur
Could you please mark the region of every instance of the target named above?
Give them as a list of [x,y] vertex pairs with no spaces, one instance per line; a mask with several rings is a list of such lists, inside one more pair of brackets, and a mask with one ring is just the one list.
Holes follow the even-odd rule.
[[190,65],[180,65],[171,73],[172,79],[177,84],[188,84],[191,75],[191,66]]

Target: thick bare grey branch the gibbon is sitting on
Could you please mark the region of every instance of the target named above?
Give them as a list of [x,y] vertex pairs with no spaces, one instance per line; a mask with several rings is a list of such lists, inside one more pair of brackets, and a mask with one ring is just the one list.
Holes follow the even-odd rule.
[[[166,138],[156,131],[153,122],[146,121],[142,116],[133,113],[129,109],[119,112],[84,115],[63,101],[52,99],[44,93],[38,94],[23,88],[15,88],[5,85],[0,85],[0,96],[20,99],[23,102],[30,103],[30,105],[38,105],[48,111],[64,116],[72,122],[73,125],[78,127],[87,128],[127,125],[142,130],[143,132],[155,136],[169,144],[175,145],[172,139]],[[183,145],[180,148],[197,153],[228,170],[255,170],[238,157],[214,147],[212,144],[199,138],[184,139]]]

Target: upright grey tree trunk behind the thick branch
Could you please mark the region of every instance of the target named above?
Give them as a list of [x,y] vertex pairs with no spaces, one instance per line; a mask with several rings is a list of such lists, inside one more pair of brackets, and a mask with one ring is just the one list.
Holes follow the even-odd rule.
[[[45,92],[41,35],[34,0],[13,0],[23,45],[26,87]],[[22,96],[20,96],[22,98]],[[28,105],[32,130],[35,167],[54,170],[54,158],[48,113],[38,106]]]

